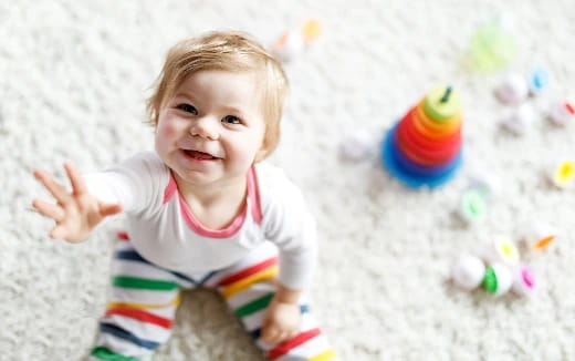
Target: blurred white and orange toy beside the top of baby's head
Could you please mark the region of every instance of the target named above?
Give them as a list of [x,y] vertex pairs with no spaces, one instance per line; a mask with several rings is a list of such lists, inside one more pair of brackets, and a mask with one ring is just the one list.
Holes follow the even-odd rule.
[[315,19],[306,20],[300,28],[284,32],[272,47],[272,52],[282,62],[291,62],[312,47],[322,34],[322,24]]

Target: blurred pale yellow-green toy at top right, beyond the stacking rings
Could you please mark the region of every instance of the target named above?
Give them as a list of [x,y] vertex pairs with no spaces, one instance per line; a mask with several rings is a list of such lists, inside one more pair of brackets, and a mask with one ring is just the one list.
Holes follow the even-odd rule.
[[471,70],[494,72],[506,66],[516,52],[512,20],[509,16],[499,17],[472,35],[467,62]]

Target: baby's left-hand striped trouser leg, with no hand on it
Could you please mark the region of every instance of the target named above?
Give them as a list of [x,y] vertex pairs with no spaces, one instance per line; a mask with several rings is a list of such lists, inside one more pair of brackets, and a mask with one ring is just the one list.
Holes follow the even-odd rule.
[[148,360],[171,334],[179,290],[189,283],[143,259],[128,240],[116,247],[112,276],[111,300],[90,360]]

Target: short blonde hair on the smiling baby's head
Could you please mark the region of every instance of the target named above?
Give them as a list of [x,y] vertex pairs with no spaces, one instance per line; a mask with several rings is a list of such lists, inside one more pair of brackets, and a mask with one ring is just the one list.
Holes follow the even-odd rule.
[[203,70],[254,71],[261,75],[262,112],[266,122],[263,138],[265,153],[261,158],[270,155],[280,141],[280,120],[289,82],[280,62],[241,32],[210,32],[174,45],[147,100],[148,122],[156,126],[165,102],[174,96],[187,76]]

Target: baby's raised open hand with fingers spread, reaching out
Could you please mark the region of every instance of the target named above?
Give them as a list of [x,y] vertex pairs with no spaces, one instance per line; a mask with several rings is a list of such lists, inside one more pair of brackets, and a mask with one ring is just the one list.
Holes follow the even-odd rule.
[[83,177],[70,163],[64,163],[64,169],[72,192],[67,192],[48,173],[34,171],[34,177],[52,194],[56,204],[34,199],[32,206],[55,221],[50,238],[79,243],[85,240],[105,217],[122,212],[122,206],[104,204],[87,193]]

